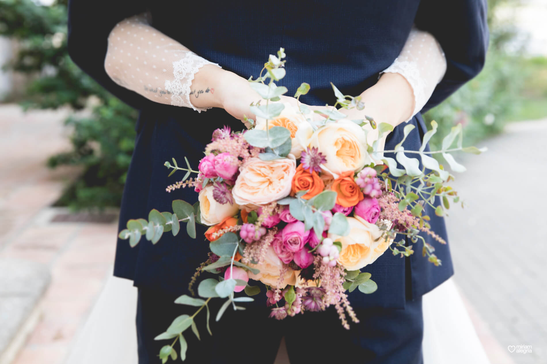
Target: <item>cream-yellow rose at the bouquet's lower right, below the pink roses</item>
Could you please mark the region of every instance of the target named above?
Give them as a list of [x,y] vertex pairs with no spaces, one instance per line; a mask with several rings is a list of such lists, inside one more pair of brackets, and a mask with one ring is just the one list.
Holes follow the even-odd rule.
[[338,262],[348,271],[355,271],[373,263],[392,243],[391,240],[375,241],[382,235],[380,228],[360,217],[348,217],[350,234],[339,236],[329,234],[334,241],[342,243]]

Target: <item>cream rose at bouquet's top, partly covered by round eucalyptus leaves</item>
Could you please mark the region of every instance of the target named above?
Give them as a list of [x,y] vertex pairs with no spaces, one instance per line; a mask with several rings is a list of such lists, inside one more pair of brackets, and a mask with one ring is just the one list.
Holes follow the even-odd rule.
[[[285,108],[281,111],[281,114],[268,120],[268,128],[283,127],[289,129],[292,142],[290,154],[293,154],[295,158],[300,158],[300,154],[310,143],[313,128],[306,120],[306,117],[300,114],[299,110],[293,108],[289,103],[283,105],[285,105]],[[257,116],[256,128],[266,130],[266,119]]]

